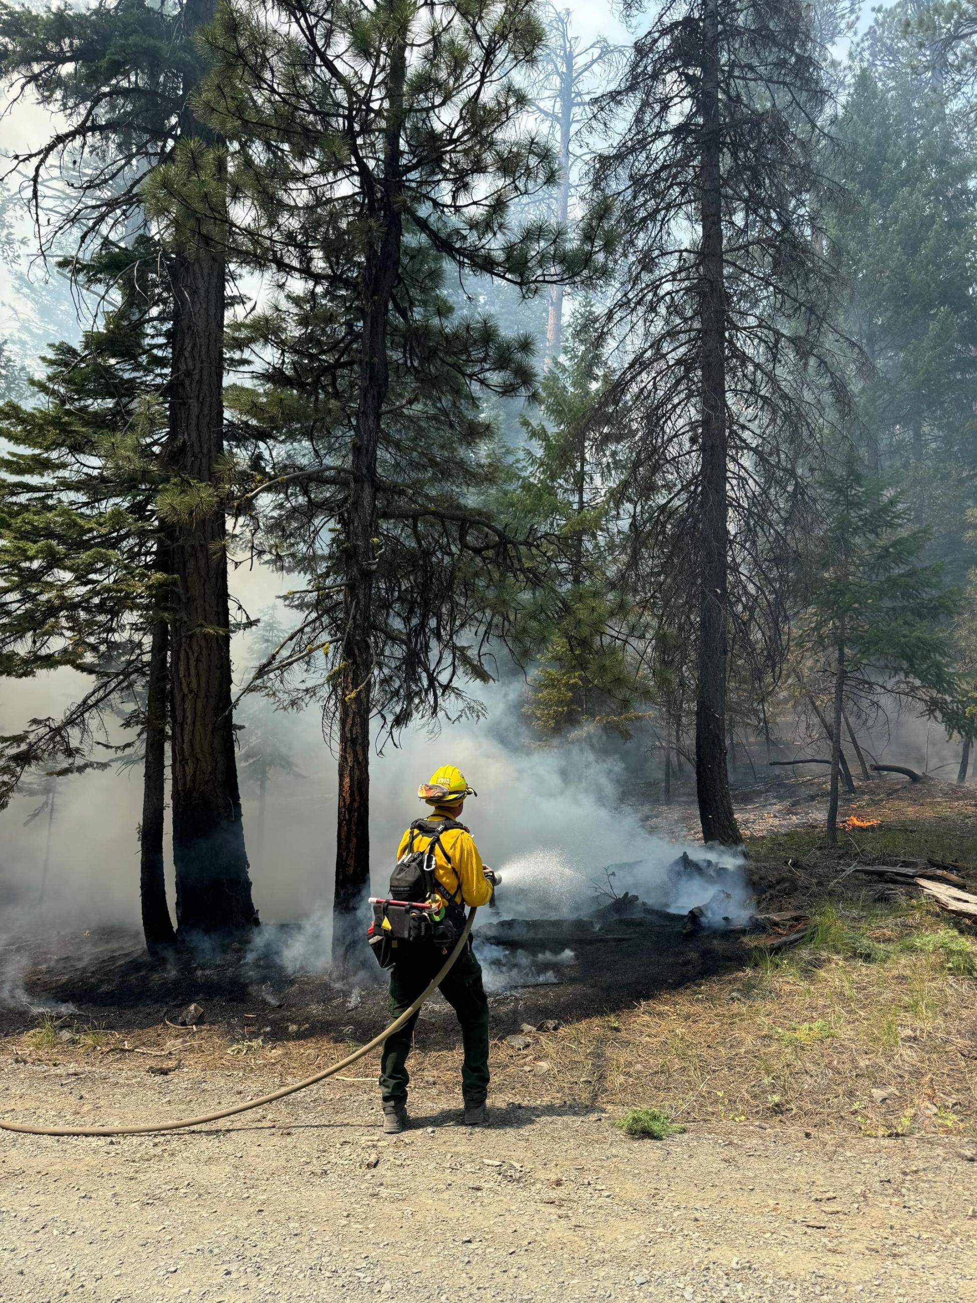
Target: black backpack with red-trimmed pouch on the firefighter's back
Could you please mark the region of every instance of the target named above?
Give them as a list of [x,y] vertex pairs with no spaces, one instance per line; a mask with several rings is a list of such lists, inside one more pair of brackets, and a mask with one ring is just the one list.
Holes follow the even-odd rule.
[[[435,873],[435,847],[453,869],[451,856],[440,840],[449,829],[464,823],[451,818],[418,818],[410,825],[406,850],[393,866],[389,878],[389,896],[373,896],[373,923],[366,932],[380,968],[391,968],[403,947],[436,947],[448,954],[465,926],[465,908],[455,894],[438,881]],[[414,850],[414,835],[421,833],[430,842],[423,850]],[[457,872],[455,873],[457,878]],[[461,889],[457,878],[456,891]]]

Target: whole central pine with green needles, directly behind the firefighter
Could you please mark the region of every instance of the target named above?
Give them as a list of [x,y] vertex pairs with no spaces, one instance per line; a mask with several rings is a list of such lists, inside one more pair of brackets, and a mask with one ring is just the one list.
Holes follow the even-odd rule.
[[[296,357],[311,468],[289,474],[322,490],[309,566],[331,589],[319,627],[336,657],[340,919],[369,876],[371,718],[389,709],[403,727],[418,697],[439,706],[446,670],[448,681],[459,665],[475,670],[453,637],[477,614],[465,572],[512,550],[468,509],[485,425],[475,392],[525,392],[531,370],[488,321],[452,322],[438,281],[451,268],[522,285],[585,261],[547,223],[509,225],[513,201],[556,175],[521,129],[528,95],[515,81],[542,38],[528,0],[241,3],[210,38],[201,111],[240,160],[231,182],[253,214],[246,236],[293,278],[315,340]],[[323,564],[311,543],[326,519],[339,529]],[[384,662],[396,666],[387,681],[406,676],[396,705]]]

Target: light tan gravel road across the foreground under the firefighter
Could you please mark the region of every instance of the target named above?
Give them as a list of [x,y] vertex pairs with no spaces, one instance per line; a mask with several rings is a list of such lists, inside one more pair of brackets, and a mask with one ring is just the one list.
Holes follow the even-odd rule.
[[[0,1110],[143,1121],[276,1081],[7,1059]],[[599,1109],[505,1098],[469,1131],[447,1097],[413,1105],[387,1141],[369,1080],[202,1132],[0,1132],[0,1300],[977,1300],[970,1143],[637,1141]]]

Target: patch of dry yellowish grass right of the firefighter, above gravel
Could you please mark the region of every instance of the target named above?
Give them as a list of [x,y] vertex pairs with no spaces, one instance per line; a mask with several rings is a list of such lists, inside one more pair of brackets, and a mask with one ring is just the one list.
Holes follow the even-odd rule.
[[565,1093],[657,1100],[680,1122],[972,1136],[976,963],[925,904],[828,906],[804,950],[645,1002],[617,1032],[576,1024],[545,1053]]

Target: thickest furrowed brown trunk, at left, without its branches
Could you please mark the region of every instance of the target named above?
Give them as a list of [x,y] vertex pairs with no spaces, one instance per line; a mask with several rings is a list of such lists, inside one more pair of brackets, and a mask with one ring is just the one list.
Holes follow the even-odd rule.
[[[214,0],[189,0],[193,31]],[[193,117],[199,70],[185,77],[185,138],[215,138]],[[173,293],[169,457],[177,477],[208,483],[224,452],[224,308],[227,263],[220,223],[185,219],[171,259]],[[258,920],[248,874],[231,713],[231,614],[223,507],[173,529],[171,754],[176,913],[181,934],[250,928]]]

